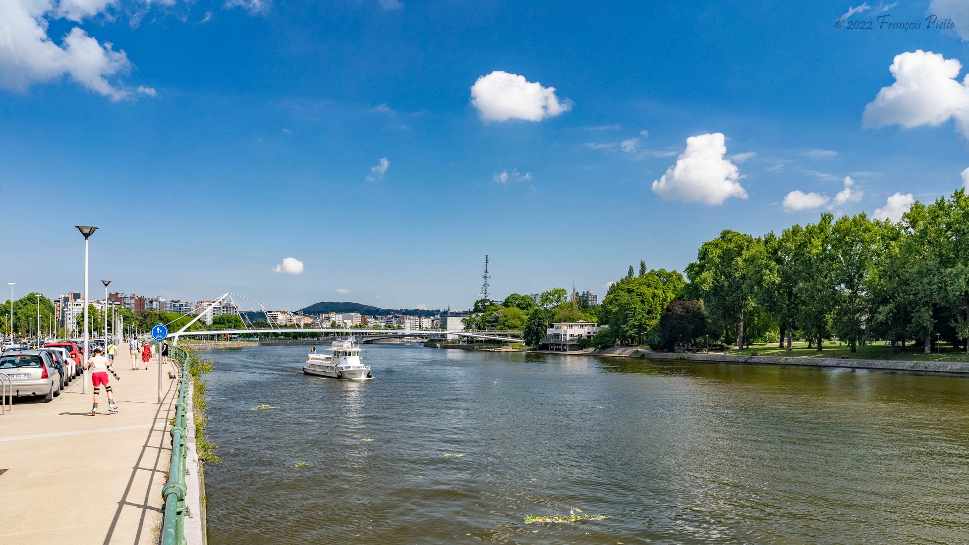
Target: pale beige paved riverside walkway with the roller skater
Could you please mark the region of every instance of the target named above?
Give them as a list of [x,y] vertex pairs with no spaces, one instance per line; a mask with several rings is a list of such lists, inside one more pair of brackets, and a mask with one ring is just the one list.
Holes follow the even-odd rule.
[[165,374],[159,406],[156,361],[132,371],[121,348],[121,380],[111,377],[120,412],[107,411],[102,388],[91,416],[93,390],[81,394],[75,378],[52,402],[15,398],[0,416],[0,543],[158,542],[177,381]]

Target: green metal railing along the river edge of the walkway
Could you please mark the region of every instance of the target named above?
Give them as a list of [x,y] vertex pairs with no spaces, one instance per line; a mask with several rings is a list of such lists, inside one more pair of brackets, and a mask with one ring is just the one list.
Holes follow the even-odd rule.
[[169,482],[162,488],[165,500],[165,517],[162,524],[162,545],[185,545],[185,458],[186,422],[188,407],[189,374],[191,355],[184,348],[171,347],[175,361],[179,363],[181,376],[178,378],[178,403],[175,404],[175,423],[172,435],[172,465],[169,468]]

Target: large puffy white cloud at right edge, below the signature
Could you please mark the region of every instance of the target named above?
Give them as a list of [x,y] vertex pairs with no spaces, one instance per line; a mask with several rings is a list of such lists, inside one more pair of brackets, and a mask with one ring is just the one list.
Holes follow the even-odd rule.
[[955,119],[969,138],[969,76],[958,81],[959,61],[918,49],[896,55],[889,70],[895,82],[864,107],[865,127],[935,127]]

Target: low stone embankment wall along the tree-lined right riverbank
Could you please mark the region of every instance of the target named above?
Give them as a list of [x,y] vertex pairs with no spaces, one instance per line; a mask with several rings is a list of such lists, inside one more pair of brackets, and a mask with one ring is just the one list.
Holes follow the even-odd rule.
[[969,362],[911,361],[892,359],[841,359],[831,357],[785,357],[761,355],[718,354],[715,352],[657,352],[642,348],[585,349],[571,352],[533,350],[548,354],[593,355],[607,357],[638,357],[665,361],[701,363],[734,363],[753,365],[797,365],[801,367],[835,367],[843,369],[880,369],[886,371],[915,371],[923,373],[951,373],[969,375]]

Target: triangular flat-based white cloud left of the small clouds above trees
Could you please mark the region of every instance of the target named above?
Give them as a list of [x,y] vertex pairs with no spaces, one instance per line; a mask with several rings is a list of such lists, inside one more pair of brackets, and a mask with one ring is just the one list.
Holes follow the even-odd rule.
[[747,198],[740,186],[739,170],[724,158],[724,142],[723,133],[687,138],[686,150],[676,158],[676,165],[653,181],[653,193],[667,200],[704,204],[722,204],[730,197]]

